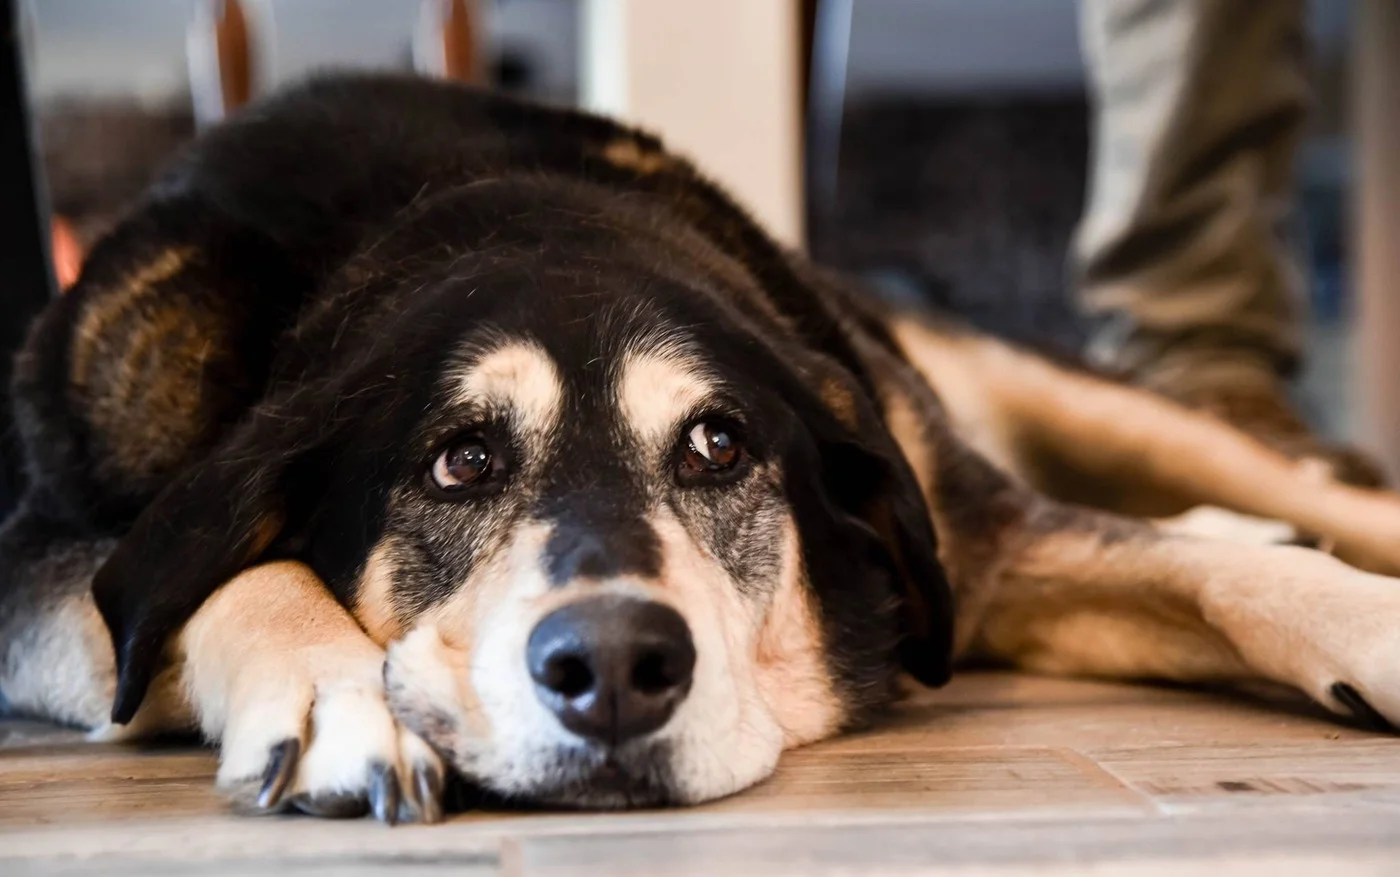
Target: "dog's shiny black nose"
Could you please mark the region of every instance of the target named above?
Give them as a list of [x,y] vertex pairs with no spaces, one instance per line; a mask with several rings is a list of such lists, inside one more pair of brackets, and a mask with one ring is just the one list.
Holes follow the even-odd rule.
[[595,597],[546,615],[525,646],[535,691],[566,728],[608,745],[655,731],[690,692],[696,647],[671,607]]

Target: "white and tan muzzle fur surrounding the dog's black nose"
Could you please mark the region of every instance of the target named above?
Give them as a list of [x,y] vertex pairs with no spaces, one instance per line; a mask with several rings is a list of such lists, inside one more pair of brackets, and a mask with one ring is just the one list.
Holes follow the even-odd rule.
[[[819,635],[809,633],[813,616],[802,597],[794,535],[783,581],[767,602],[756,602],[741,595],[675,518],[658,516],[652,524],[662,542],[664,584],[617,579],[552,588],[538,569],[547,530],[518,530],[508,551],[389,647],[385,678],[398,719],[490,790],[588,806],[589,780],[580,765],[601,755],[536,696],[525,647],[553,609],[624,594],[673,607],[696,646],[689,696],[659,731],[633,747],[634,755],[658,764],[634,764],[629,772],[664,785],[664,800],[732,794],[773,773],[784,748],[833,733],[841,710],[825,675]],[[627,755],[623,747],[617,759]],[[578,800],[560,801],[561,790]]]

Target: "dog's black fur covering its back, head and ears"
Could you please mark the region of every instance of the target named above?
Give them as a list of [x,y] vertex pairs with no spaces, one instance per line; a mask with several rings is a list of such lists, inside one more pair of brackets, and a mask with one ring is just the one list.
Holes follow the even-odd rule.
[[[888,699],[897,642],[944,681],[951,591],[851,342],[893,352],[882,324],[647,134],[409,78],[255,105],[95,248],[18,363],[32,488],[0,587],[60,534],[120,538],[94,593],[125,721],[162,643],[238,570],[295,556],[353,601],[389,496],[421,478],[406,448],[442,440],[423,415],[465,332],[563,352],[587,420],[598,339],[578,336],[603,312],[685,326],[755,412],[847,699]],[[613,499],[585,517],[626,534]],[[426,605],[456,580],[420,569],[400,597]]]

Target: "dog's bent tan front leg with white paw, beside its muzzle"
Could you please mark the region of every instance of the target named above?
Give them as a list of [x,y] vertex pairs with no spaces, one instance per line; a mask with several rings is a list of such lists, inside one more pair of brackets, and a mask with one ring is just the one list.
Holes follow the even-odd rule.
[[218,786],[253,810],[386,822],[441,818],[442,765],[389,713],[384,651],[305,566],[221,586],[176,637]]

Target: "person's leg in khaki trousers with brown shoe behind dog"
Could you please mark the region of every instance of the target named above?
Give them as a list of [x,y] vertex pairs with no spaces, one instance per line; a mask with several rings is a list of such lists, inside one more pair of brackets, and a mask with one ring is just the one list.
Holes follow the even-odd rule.
[[1072,258],[1091,357],[1343,478],[1291,409],[1303,270],[1287,235],[1310,88],[1303,0],[1081,0],[1095,95]]

